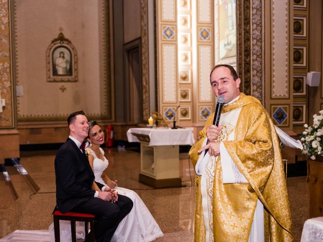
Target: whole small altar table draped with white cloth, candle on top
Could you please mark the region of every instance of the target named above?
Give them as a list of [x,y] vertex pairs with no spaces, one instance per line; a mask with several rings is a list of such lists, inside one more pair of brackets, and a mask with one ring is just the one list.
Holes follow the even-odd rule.
[[140,142],[139,181],[154,188],[181,187],[179,146],[193,145],[193,128],[131,128],[129,142]]

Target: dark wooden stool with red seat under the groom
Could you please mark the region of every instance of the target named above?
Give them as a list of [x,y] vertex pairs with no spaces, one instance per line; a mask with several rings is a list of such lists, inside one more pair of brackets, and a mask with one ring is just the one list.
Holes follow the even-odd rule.
[[[95,228],[94,228],[94,219],[95,216],[92,214],[86,213],[61,213],[59,210],[55,210],[53,212],[54,219],[54,233],[55,233],[55,241],[60,242],[60,220],[69,220],[71,221],[71,234],[72,234],[72,242],[76,242],[76,228],[75,221],[85,222],[85,239],[86,241],[95,242]],[[91,233],[88,234],[88,223],[90,223]]]

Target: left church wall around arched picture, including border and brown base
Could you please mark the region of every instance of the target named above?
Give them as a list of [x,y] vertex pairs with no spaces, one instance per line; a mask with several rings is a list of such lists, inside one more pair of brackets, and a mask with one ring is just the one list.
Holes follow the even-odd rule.
[[[114,118],[109,56],[109,2],[14,0],[13,65],[20,144],[66,140],[69,113],[84,110],[106,124]],[[48,80],[48,46],[63,33],[75,48],[76,80]],[[53,62],[53,61],[52,61]],[[50,69],[51,70],[51,69]],[[54,67],[52,68],[54,70]]]

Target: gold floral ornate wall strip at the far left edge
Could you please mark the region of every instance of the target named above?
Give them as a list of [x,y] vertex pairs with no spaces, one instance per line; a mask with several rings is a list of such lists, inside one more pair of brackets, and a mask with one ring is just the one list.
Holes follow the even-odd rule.
[[[15,103],[11,64],[11,15],[10,2],[0,2],[0,102],[5,99],[6,106],[0,112],[0,129],[15,128]],[[1,104],[0,104],[1,105]]]

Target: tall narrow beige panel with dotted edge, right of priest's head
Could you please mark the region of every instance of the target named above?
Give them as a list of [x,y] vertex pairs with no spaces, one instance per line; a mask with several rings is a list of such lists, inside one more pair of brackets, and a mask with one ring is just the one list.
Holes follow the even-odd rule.
[[272,98],[288,98],[288,1],[273,1]]

